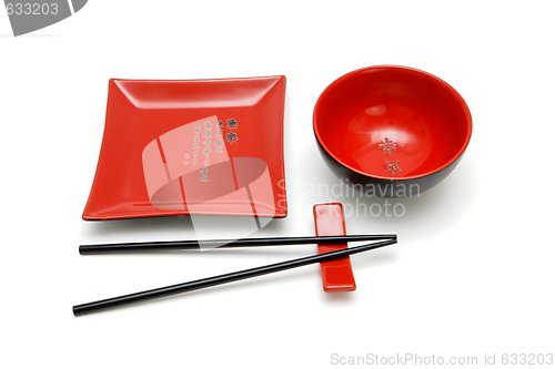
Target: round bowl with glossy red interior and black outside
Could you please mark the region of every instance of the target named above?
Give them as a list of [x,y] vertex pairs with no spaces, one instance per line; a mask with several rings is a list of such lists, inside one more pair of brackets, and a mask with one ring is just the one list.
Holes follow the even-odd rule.
[[314,107],[323,157],[341,177],[381,196],[425,191],[453,171],[472,134],[463,98],[435,75],[396,65],[363,68],[330,84]]

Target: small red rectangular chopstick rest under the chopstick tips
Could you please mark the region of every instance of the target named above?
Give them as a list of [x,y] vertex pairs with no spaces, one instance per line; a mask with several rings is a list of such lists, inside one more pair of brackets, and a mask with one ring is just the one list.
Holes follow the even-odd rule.
[[[314,225],[316,236],[342,236],[346,235],[345,214],[341,203],[314,205]],[[346,248],[343,244],[319,244],[319,254],[335,252]],[[337,260],[320,264],[322,285],[326,293],[353,291],[356,289],[351,258],[344,257]]]

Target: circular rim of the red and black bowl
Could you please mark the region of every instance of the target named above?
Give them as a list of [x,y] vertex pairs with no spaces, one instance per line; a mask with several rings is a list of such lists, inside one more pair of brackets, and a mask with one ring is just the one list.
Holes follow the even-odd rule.
[[[382,175],[373,175],[373,174],[365,173],[365,172],[363,172],[361,170],[354,168],[353,166],[344,163],[334,153],[332,153],[329,150],[329,147],[323,143],[322,136],[321,136],[321,134],[319,132],[317,124],[316,124],[316,112],[319,111],[320,105],[322,104],[322,100],[325,96],[327,96],[330,94],[330,92],[337,84],[340,84],[341,82],[346,81],[346,80],[353,78],[354,75],[360,74],[362,72],[365,72],[367,70],[379,70],[379,69],[410,71],[410,72],[413,72],[413,73],[422,74],[425,78],[431,79],[431,80],[437,82],[438,84],[443,85],[445,88],[445,90],[448,93],[451,93],[451,95],[453,98],[455,98],[455,100],[457,101],[457,103],[462,107],[462,110],[464,112],[464,115],[466,117],[467,131],[466,131],[466,136],[464,139],[463,145],[461,145],[461,148],[455,153],[455,155],[453,155],[452,158],[450,158],[448,161],[446,161],[444,164],[437,166],[436,168],[427,171],[427,172],[422,173],[422,174],[408,175],[408,176],[398,176],[398,177],[382,176]],[[324,91],[322,91],[322,93],[320,94],[320,96],[319,96],[319,99],[316,101],[316,104],[314,105],[314,111],[313,111],[313,114],[312,114],[312,129],[314,131],[314,135],[316,136],[317,143],[324,148],[324,151],[327,153],[327,155],[330,155],[331,157],[333,157],[333,160],[335,160],[339,164],[341,164],[342,166],[346,167],[347,170],[353,171],[355,173],[359,173],[359,174],[361,174],[361,175],[363,175],[365,177],[369,177],[369,178],[385,180],[385,181],[406,181],[406,180],[417,180],[417,178],[423,178],[423,177],[430,176],[432,174],[435,174],[435,173],[438,173],[438,172],[445,170],[451,164],[455,163],[463,155],[463,153],[466,151],[466,147],[468,146],[468,143],[470,143],[471,136],[472,136],[473,124],[472,124],[471,111],[468,109],[468,105],[464,101],[463,96],[451,84],[448,84],[444,80],[440,79],[438,76],[436,76],[436,75],[434,75],[432,73],[428,73],[428,72],[425,72],[423,70],[420,70],[420,69],[416,69],[416,68],[412,68],[412,66],[395,65],[395,64],[379,64],[379,65],[371,65],[371,66],[364,66],[364,68],[356,69],[354,71],[351,71],[351,72],[346,73],[346,74],[343,74],[342,76],[337,78],[335,81],[333,81],[332,83],[330,83],[324,89]]]

